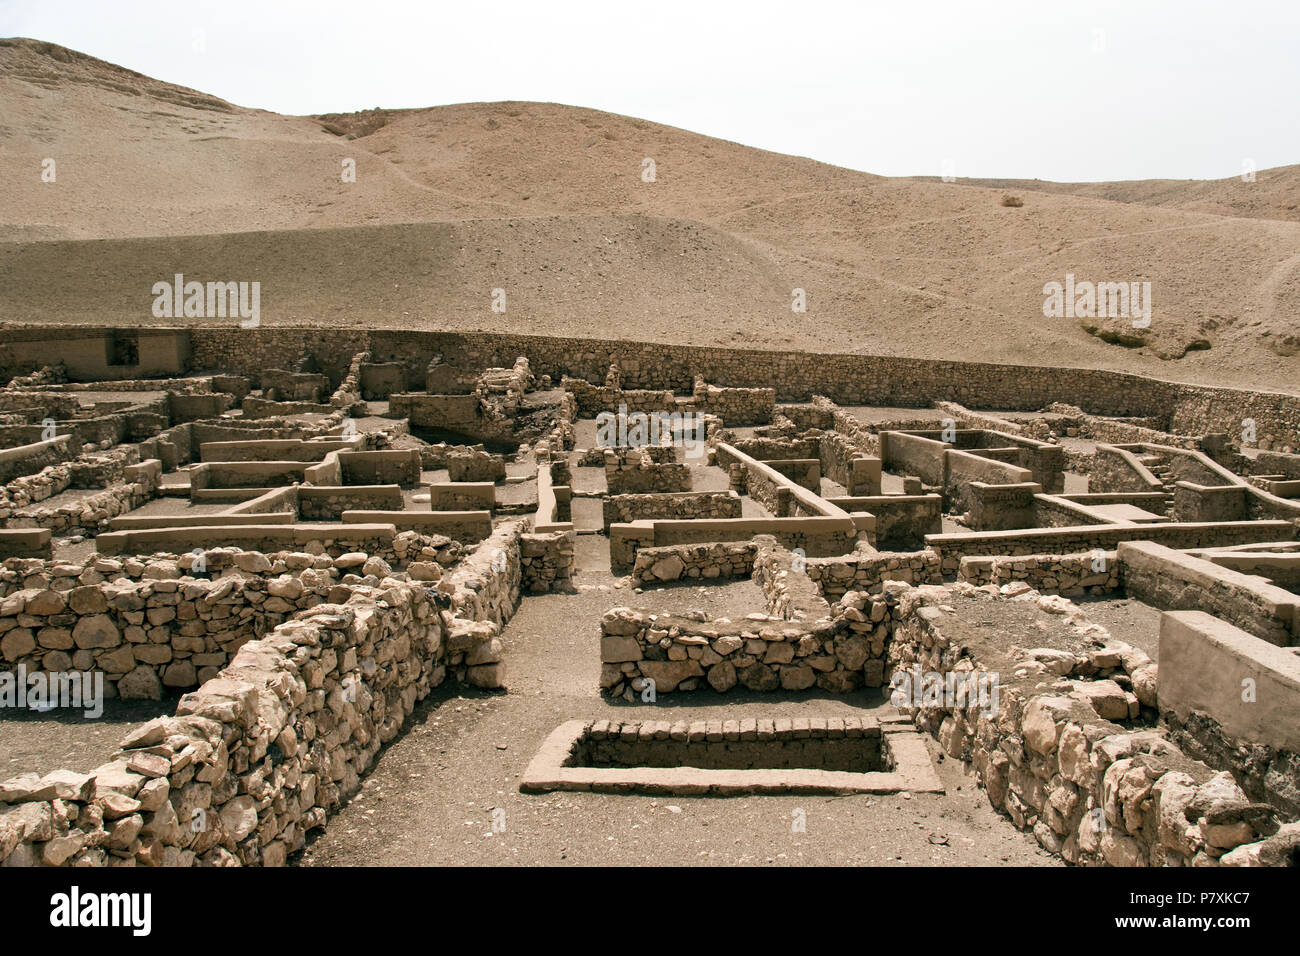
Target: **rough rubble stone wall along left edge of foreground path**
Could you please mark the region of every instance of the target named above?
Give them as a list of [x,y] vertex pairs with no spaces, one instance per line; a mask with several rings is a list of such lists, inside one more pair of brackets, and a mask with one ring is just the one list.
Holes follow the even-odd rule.
[[[382,600],[381,600],[382,598]],[[355,591],[242,646],[90,774],[10,780],[5,865],[282,865],[442,683],[424,588]]]

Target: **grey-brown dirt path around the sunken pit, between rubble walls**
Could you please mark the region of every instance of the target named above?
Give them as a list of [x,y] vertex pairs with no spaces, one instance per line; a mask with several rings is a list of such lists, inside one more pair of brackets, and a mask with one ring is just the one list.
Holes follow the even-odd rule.
[[[650,708],[671,719],[893,711],[875,692],[772,700],[701,691],[658,704],[606,702],[597,693],[597,645],[607,609],[736,614],[759,609],[760,597],[750,581],[615,589],[606,540],[590,535],[580,537],[578,564],[577,593],[526,598],[506,628],[508,692],[434,692],[299,865],[1060,865],[992,810],[959,763],[937,757],[946,796],[520,793],[519,777],[542,740],[572,718],[642,718]],[[498,808],[503,832],[493,832]],[[806,832],[792,829],[797,810]]]

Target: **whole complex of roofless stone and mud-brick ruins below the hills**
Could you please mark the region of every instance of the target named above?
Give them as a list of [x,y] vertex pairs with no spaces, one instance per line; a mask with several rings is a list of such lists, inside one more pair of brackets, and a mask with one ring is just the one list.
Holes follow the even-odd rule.
[[[500,336],[60,336],[55,367],[8,341],[0,390],[0,674],[61,704],[0,711],[9,865],[347,861],[330,818],[465,695],[515,717],[446,771],[512,813],[823,793],[941,821],[965,782],[1043,861],[1295,860],[1300,399]],[[101,715],[57,698],[68,675],[98,675]]]

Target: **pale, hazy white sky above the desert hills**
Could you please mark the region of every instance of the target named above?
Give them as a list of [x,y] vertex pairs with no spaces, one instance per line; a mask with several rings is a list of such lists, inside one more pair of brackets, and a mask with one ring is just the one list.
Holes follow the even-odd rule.
[[1300,0],[0,0],[0,35],[281,113],[550,100],[887,176],[1300,163]]

